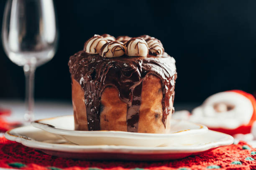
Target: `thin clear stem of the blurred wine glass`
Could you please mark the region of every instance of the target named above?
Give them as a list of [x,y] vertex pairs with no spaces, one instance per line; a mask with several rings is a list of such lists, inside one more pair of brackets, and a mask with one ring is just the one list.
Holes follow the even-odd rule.
[[34,120],[34,76],[36,67],[31,65],[24,65],[23,70],[26,79],[26,112],[24,119],[26,122],[30,123]]

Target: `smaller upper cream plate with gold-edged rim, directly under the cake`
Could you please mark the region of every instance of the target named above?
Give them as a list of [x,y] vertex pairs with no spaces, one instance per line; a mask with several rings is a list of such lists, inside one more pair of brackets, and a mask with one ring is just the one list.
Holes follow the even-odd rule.
[[74,116],[60,116],[32,122],[36,128],[54,133],[77,145],[126,145],[126,146],[166,146],[181,135],[203,133],[204,125],[184,120],[172,120],[171,131],[167,134],[131,133],[122,131],[79,131],[74,130]]

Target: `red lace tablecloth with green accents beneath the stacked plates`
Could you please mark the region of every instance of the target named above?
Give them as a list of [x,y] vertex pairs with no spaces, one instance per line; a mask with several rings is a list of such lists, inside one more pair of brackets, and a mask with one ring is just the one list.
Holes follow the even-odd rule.
[[[11,128],[1,117],[0,130]],[[5,112],[5,115],[8,112]],[[240,142],[211,150],[197,156],[181,160],[163,162],[129,162],[129,161],[86,161],[57,158],[41,151],[25,147],[0,137],[0,168],[17,168],[26,170],[253,170],[256,169],[256,149]]]

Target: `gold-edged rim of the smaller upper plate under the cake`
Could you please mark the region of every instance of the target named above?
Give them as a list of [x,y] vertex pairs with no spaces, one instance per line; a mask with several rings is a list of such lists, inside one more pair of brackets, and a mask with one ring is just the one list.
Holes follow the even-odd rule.
[[[68,116],[74,116],[74,115],[64,115],[64,116],[57,116],[57,117],[50,117],[50,118],[35,120],[35,121],[31,122],[31,125],[33,125],[33,127],[35,127],[35,128],[40,128],[49,133],[54,133],[57,135],[79,136],[79,137],[87,137],[87,136],[116,137],[116,135],[125,135],[125,136],[118,136],[118,138],[144,138],[144,137],[147,137],[147,138],[155,138],[155,137],[169,138],[172,136],[205,132],[208,130],[208,128],[205,125],[195,123],[195,122],[190,122],[187,120],[176,120],[176,121],[189,122],[191,124],[199,126],[200,129],[187,129],[187,130],[182,130],[182,131],[174,132],[174,133],[161,133],[161,134],[160,133],[132,133],[132,132],[124,132],[124,131],[116,131],[116,130],[82,131],[82,130],[60,129],[60,128],[54,127],[53,125],[49,125],[49,124],[40,122],[40,121],[44,121],[44,120],[50,120],[50,119],[55,119],[55,118],[59,118],[59,117],[68,117]],[[172,119],[172,120],[175,120],[175,119]]]

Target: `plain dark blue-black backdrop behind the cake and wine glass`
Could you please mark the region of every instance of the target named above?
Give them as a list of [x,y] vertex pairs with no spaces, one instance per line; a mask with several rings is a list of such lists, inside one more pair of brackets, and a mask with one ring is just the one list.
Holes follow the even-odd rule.
[[[59,47],[38,67],[35,97],[71,101],[69,56],[94,34],[158,38],[176,60],[175,102],[202,102],[216,92],[256,91],[256,1],[55,0]],[[0,1],[2,25],[5,0]],[[0,47],[0,98],[23,99],[23,69]]]

